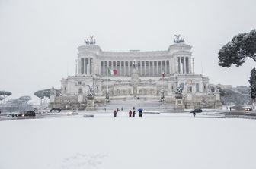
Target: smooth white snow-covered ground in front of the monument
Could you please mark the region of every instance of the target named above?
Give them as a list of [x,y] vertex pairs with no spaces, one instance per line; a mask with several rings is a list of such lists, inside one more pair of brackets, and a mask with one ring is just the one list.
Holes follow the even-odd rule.
[[205,117],[120,113],[0,121],[0,168],[256,168],[255,120]]

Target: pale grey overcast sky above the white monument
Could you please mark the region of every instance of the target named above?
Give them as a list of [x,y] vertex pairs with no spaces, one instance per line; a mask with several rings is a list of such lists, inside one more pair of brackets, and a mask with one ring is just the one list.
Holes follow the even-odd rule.
[[181,34],[193,46],[197,74],[203,65],[210,83],[248,86],[255,62],[223,68],[217,53],[255,28],[255,0],[0,0],[0,90],[12,92],[10,99],[60,89],[90,35],[104,51],[152,51],[168,49]]

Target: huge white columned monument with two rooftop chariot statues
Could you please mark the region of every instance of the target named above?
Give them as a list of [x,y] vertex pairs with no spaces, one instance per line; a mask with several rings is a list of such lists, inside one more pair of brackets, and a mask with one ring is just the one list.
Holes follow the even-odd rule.
[[78,47],[75,75],[61,80],[61,95],[50,105],[84,109],[91,86],[95,105],[108,99],[162,100],[175,104],[176,88],[182,86],[184,108],[219,108],[216,86],[209,84],[208,77],[194,73],[191,48],[176,36],[174,43],[163,51],[107,52],[91,36]]

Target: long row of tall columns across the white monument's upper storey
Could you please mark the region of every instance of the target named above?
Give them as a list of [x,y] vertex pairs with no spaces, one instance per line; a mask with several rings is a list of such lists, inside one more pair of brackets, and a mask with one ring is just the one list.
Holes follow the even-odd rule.
[[[136,61],[138,65],[138,72],[140,77],[157,77],[161,76],[163,72],[165,74],[174,73],[176,70],[178,74],[190,74],[190,58],[189,57],[177,57],[177,64],[172,65],[171,60],[157,60],[157,61]],[[93,74],[93,58],[79,58],[78,72],[81,75]],[[98,67],[100,66],[100,67]],[[171,66],[174,66],[172,69]],[[117,70],[117,77],[130,77],[133,72],[133,61],[100,61],[96,65],[97,72],[95,74],[101,74],[107,76],[107,69]]]

